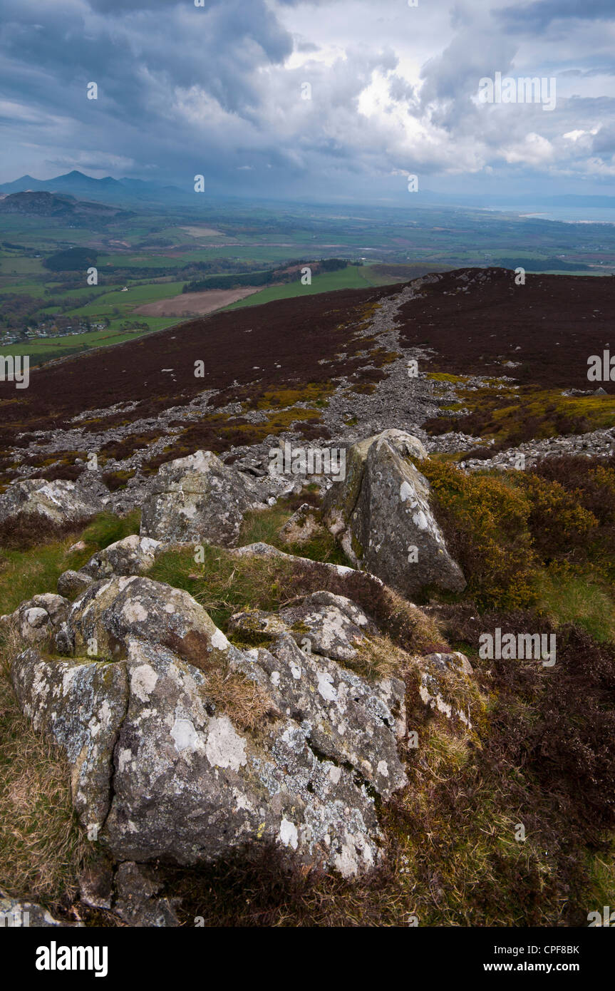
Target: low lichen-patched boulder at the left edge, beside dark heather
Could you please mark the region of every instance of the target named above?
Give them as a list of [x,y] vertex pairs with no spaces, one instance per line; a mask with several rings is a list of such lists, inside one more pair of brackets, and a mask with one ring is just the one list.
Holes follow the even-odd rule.
[[90,472],[76,482],[21,479],[0,495],[0,523],[33,514],[52,523],[84,519],[101,512],[109,498],[109,490]]

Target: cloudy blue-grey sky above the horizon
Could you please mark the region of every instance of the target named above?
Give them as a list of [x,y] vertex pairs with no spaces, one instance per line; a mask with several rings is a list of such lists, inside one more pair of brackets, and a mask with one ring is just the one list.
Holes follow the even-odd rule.
[[[484,102],[498,72],[555,106]],[[0,0],[0,181],[73,168],[322,202],[398,203],[413,175],[615,195],[615,0]]]

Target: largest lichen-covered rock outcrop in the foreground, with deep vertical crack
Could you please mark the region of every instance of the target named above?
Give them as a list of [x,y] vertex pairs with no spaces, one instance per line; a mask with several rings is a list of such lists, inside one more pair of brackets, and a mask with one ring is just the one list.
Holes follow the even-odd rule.
[[[405,687],[367,683],[328,656],[372,628],[357,606],[307,597],[251,649],[147,578],[95,582],[62,614],[74,656],[28,648],[12,680],[22,711],[65,749],[75,809],[113,859],[196,864],[266,841],[347,877],[378,862],[374,796],[405,783]],[[297,623],[322,653],[299,648]],[[242,719],[243,692],[257,728]]]

